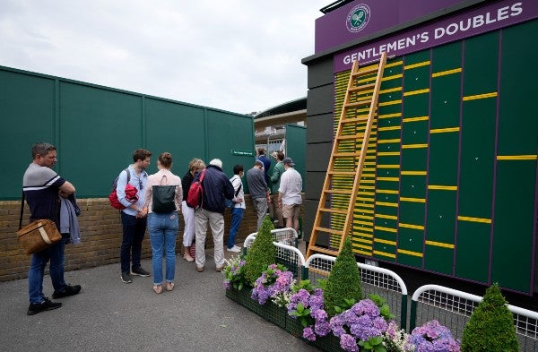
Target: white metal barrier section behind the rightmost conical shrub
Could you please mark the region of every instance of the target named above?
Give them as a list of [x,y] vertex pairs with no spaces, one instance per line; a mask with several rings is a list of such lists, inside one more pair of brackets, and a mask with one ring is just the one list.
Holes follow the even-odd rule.
[[[447,326],[456,339],[461,339],[465,324],[478,304],[481,296],[475,296],[452,288],[425,285],[412,294],[409,331],[432,319]],[[520,351],[538,351],[538,313],[508,305],[514,314]]]

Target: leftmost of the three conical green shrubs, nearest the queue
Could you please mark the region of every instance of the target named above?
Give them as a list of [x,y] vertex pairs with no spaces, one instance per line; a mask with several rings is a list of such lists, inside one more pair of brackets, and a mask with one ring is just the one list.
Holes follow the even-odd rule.
[[262,275],[262,271],[267,270],[267,266],[275,262],[276,248],[271,235],[273,228],[273,221],[265,217],[254,243],[248,249],[244,270],[247,282],[251,286],[254,286],[256,279]]

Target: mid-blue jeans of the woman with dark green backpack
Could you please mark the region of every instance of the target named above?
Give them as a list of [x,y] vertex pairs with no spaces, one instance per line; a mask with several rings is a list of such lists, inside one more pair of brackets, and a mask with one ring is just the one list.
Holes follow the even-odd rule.
[[166,280],[174,281],[176,273],[176,237],[178,237],[178,212],[150,213],[148,231],[152,240],[153,284],[162,284],[162,247],[166,255]]

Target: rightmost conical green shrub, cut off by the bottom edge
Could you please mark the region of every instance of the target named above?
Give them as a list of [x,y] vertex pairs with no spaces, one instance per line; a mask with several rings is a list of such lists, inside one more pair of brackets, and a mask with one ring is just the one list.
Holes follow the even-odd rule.
[[462,352],[519,350],[514,316],[508,310],[498,284],[486,290],[482,302],[474,309],[465,325],[461,348]]

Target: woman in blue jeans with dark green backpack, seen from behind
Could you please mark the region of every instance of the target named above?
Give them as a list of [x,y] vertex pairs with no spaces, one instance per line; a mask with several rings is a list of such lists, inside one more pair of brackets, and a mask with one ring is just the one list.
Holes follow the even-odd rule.
[[[144,208],[148,209],[148,232],[152,241],[153,253],[153,291],[156,294],[162,293],[162,253],[166,256],[166,289],[171,291],[174,289],[174,275],[176,273],[176,237],[178,236],[178,210],[181,209],[181,199],[183,191],[181,188],[181,179],[172,174],[172,156],[169,152],[163,152],[157,159],[157,167],[159,171],[151,176],[148,176],[147,187],[145,192]],[[154,207],[153,201],[167,201],[166,198],[159,197],[154,192],[153,187],[162,187],[172,191],[173,199],[168,199],[168,203],[161,204],[169,205],[170,210],[163,210]],[[155,188],[156,190],[156,188]],[[173,204],[172,204],[173,202]]]

